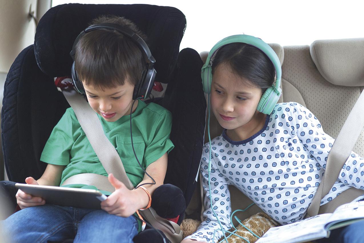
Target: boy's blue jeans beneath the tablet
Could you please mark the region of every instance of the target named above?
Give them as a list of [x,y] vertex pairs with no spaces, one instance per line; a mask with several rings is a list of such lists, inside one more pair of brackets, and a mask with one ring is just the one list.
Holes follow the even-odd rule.
[[103,210],[43,205],[14,213],[0,222],[14,243],[40,243],[75,238],[79,242],[132,243],[138,234],[134,216],[119,217]]

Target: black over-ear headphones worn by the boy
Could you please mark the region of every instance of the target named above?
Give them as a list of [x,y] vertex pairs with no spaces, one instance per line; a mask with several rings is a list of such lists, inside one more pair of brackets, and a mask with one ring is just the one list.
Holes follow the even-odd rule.
[[87,27],[85,30],[81,31],[81,33],[77,36],[75,42],[73,43],[72,51],[70,52],[70,55],[74,61],[72,63],[72,67],[71,67],[71,74],[72,74],[73,84],[74,84],[74,87],[76,88],[76,90],[81,94],[85,93],[82,82],[78,79],[77,72],[75,70],[75,52],[76,52],[75,46],[76,46],[77,42],[79,41],[79,39],[82,36],[84,36],[87,32],[90,32],[93,30],[99,30],[99,29],[119,31],[121,34],[130,38],[142,51],[142,54],[145,57],[145,61],[146,61],[146,69],[143,72],[141,81],[138,82],[138,84],[136,84],[134,87],[132,99],[135,100],[139,97],[142,97],[142,99],[145,99],[145,98],[149,97],[150,92],[153,88],[155,74],[157,74],[157,71],[155,71],[155,69],[153,67],[154,63],[155,63],[155,59],[152,56],[152,54],[149,50],[149,47],[147,46],[145,41],[139,35],[135,34],[134,32],[132,32],[131,30],[129,30],[127,28],[123,28],[122,26],[120,26],[118,24],[113,24],[113,23],[103,23],[103,24],[91,25],[91,26]]

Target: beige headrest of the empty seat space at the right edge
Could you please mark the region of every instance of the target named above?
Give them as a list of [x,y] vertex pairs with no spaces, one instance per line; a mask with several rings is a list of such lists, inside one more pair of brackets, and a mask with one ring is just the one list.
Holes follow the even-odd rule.
[[328,82],[364,85],[364,38],[315,40],[310,54],[318,72]]

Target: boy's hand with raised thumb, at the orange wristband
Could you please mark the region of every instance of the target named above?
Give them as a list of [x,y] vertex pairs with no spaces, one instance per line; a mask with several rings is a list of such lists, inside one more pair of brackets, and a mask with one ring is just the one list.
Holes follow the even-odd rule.
[[[129,190],[121,181],[116,179],[113,174],[109,174],[108,179],[115,188],[107,199],[101,202],[101,208],[110,214],[121,217],[129,217],[138,209],[143,208],[141,205],[144,200],[138,198],[137,190]],[[148,198],[147,194],[143,192]]]

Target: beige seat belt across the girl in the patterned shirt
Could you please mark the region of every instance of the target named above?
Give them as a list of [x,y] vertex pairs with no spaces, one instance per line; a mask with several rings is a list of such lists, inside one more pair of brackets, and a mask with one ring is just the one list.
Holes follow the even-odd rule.
[[335,181],[339,178],[340,170],[349,158],[356,140],[359,138],[364,127],[364,91],[361,92],[353,109],[349,113],[344,126],[341,128],[327,158],[326,169],[323,179],[318,186],[316,194],[307,209],[305,218],[316,216],[321,213],[332,213],[337,207],[351,202],[364,194],[364,190],[350,188],[342,192],[332,201],[320,207],[321,199],[329,193]]

